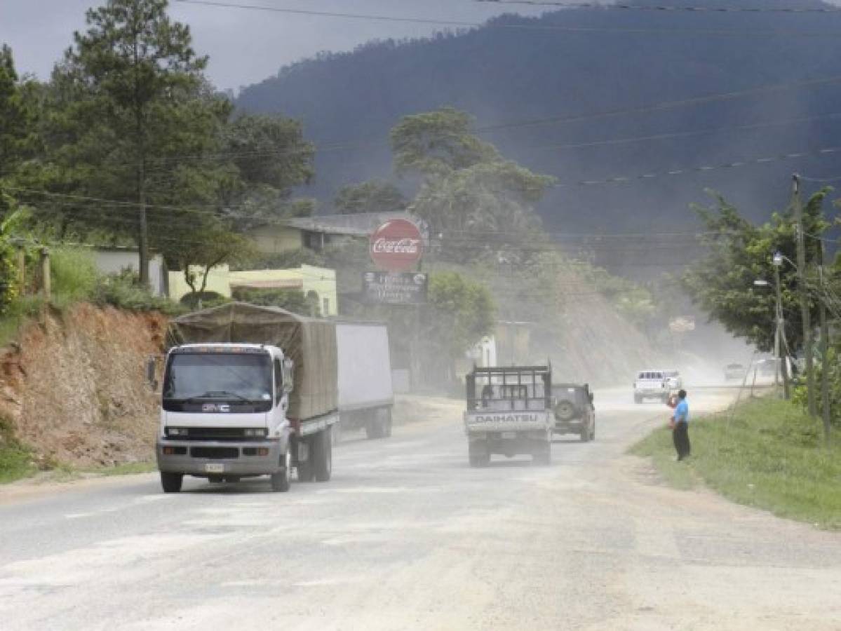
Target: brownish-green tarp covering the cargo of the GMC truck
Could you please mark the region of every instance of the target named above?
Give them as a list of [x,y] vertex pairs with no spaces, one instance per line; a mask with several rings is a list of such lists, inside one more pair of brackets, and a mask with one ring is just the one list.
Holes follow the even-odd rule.
[[178,344],[269,344],[295,362],[288,415],[312,418],[338,408],[336,325],[275,307],[231,302],[172,320],[170,346]]

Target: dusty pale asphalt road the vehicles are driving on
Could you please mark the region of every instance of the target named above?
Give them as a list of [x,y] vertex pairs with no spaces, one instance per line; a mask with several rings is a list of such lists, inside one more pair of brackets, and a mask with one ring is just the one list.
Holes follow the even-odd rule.
[[624,452],[666,410],[596,397],[595,443],[557,442],[548,468],[469,468],[441,402],[285,494],[164,495],[151,475],[4,490],[0,628],[841,628],[841,534],[663,486]]

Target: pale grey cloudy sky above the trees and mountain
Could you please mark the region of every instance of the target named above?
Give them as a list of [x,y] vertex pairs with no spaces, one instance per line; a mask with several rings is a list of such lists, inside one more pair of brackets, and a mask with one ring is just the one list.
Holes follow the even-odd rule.
[[[481,22],[512,8],[471,0],[231,0],[314,11]],[[19,71],[40,78],[84,27],[97,0],[0,0],[0,41],[12,46]],[[446,27],[348,18],[246,11],[170,2],[171,13],[193,30],[195,48],[210,55],[208,73],[220,88],[237,88],[275,74],[320,50],[350,50],[369,39],[430,34]],[[537,15],[539,8],[517,13]]]

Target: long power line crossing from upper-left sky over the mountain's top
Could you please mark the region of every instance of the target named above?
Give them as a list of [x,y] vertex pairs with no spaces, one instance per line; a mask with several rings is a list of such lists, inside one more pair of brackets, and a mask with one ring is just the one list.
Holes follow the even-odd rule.
[[463,29],[488,28],[488,29],[519,29],[530,31],[547,31],[560,33],[616,33],[616,34],[674,34],[674,35],[712,35],[721,37],[744,37],[769,35],[780,35],[785,37],[832,37],[836,38],[841,34],[829,31],[792,31],[790,29],[749,29],[749,30],[727,30],[727,29],[647,29],[647,28],[610,28],[610,27],[587,27],[587,26],[561,26],[559,24],[524,24],[505,22],[468,22],[464,20],[442,19],[442,18],[416,18],[399,17],[395,15],[380,15],[374,13],[340,13],[335,11],[315,11],[311,9],[267,7],[260,4],[242,4],[215,2],[214,0],[175,0],[177,3],[201,5],[217,8],[234,8],[247,11],[262,11],[267,13],[285,13],[290,15],[305,15],[319,18],[345,18],[356,20],[368,20],[372,22],[399,22],[405,24],[431,24],[435,26],[452,26]]

